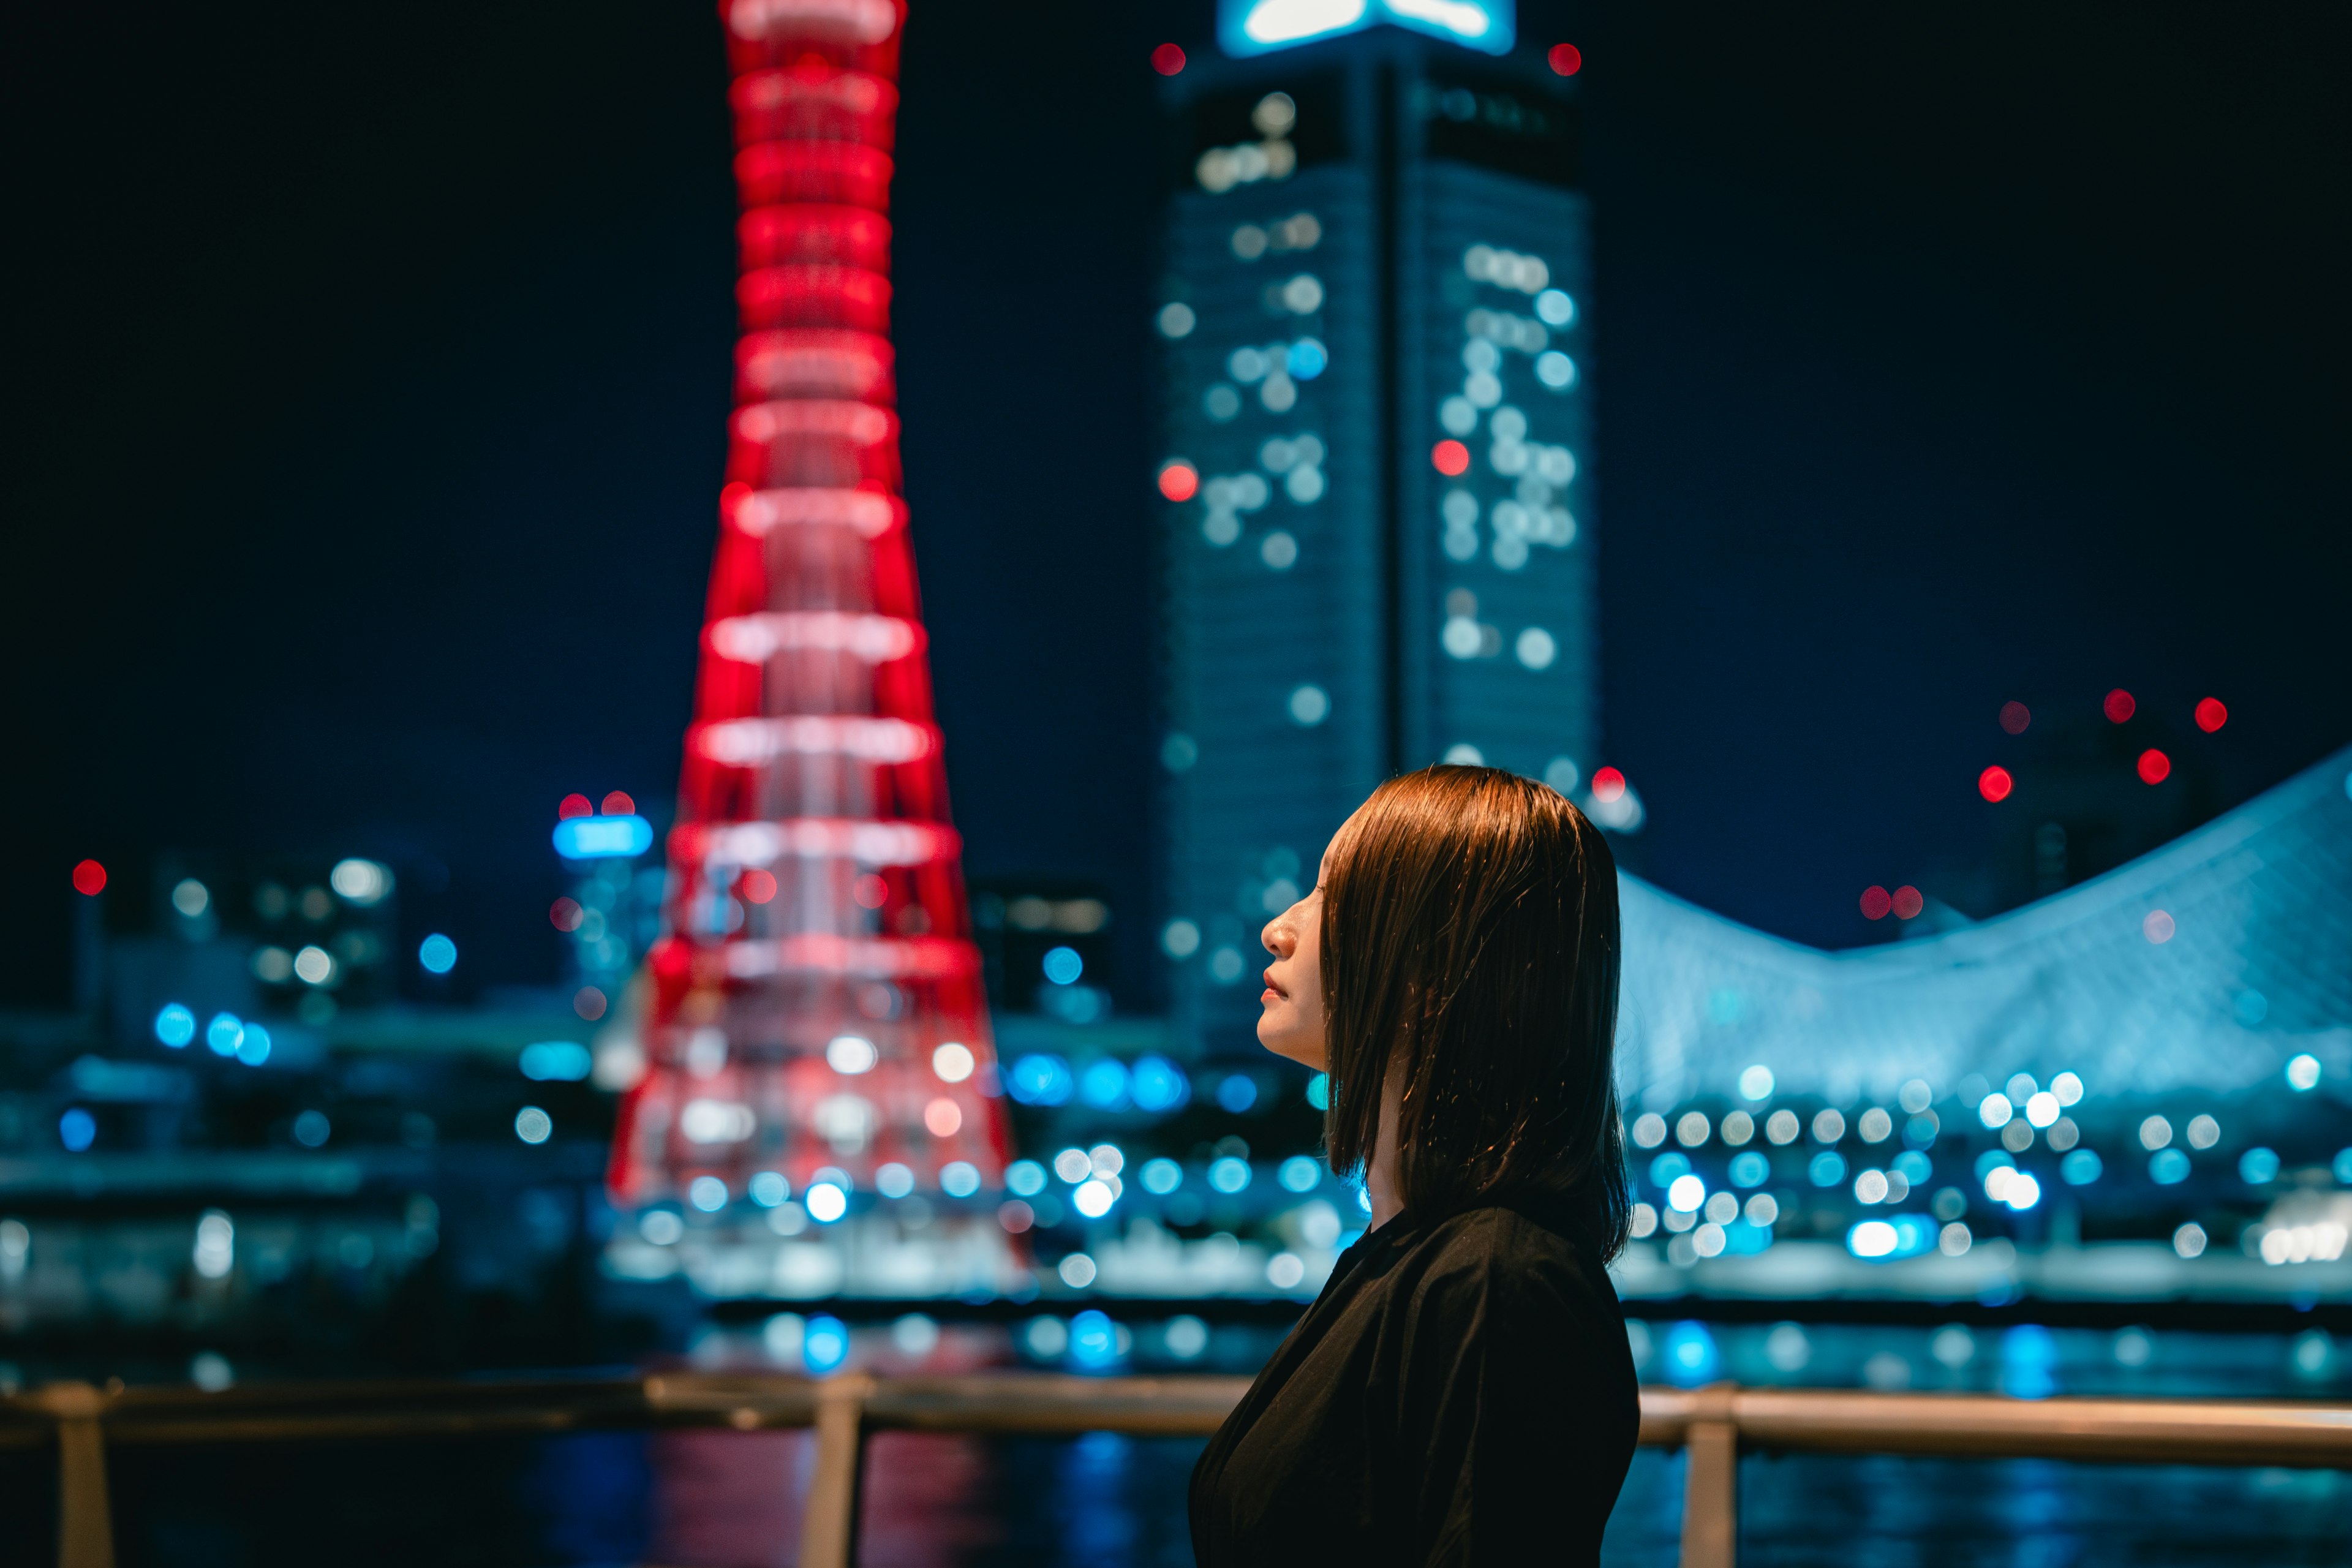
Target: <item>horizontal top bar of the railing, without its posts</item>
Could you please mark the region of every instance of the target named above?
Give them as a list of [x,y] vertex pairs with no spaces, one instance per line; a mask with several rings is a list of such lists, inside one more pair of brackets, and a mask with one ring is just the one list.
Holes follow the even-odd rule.
[[[781,1373],[510,1382],[310,1382],[99,1399],[111,1443],[414,1439],[595,1427],[807,1427],[823,1380]],[[1216,1432],[1247,1378],[877,1378],[870,1429],[1068,1434]],[[94,1392],[92,1392],[94,1394]],[[42,1392],[0,1399],[0,1443],[49,1441]],[[1642,1389],[1642,1443],[1729,1420],[1745,1448],[2352,1469],[2352,1408],[2288,1401],[2004,1399],[1858,1389]]]

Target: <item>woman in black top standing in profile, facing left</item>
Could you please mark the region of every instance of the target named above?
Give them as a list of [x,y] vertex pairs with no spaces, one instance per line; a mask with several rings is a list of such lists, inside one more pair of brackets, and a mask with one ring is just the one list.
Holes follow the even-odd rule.
[[1371,1229],[1192,1472],[1200,1568],[1592,1563],[1639,1429],[1616,863],[1498,769],[1374,790],[1265,926],[1258,1039],[1331,1074]]

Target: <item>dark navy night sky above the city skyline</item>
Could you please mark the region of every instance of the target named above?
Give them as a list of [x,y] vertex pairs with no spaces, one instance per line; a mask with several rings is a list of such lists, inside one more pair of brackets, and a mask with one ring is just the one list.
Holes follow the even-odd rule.
[[[2063,14],[2060,14],[2063,12]],[[734,190],[694,0],[127,0],[5,24],[0,1004],[68,867],[426,867],[550,983],[557,797],[668,797]],[[1148,52],[1207,7],[917,0],[908,496],[974,875],[1103,879],[1148,999]],[[1531,5],[1585,52],[1606,757],[1632,860],[1799,940],[1987,853],[2009,698],[2352,741],[2338,7]],[[2190,731],[2194,733],[2194,731]],[[433,875],[445,867],[445,877]],[[1959,893],[1955,900],[1964,903]]]

